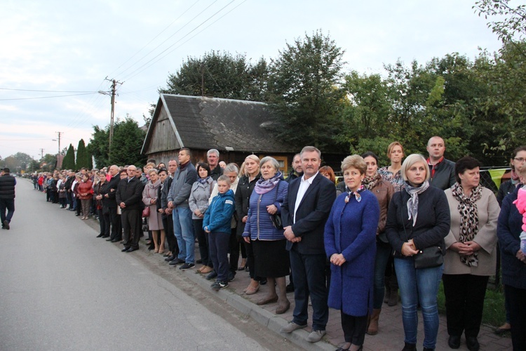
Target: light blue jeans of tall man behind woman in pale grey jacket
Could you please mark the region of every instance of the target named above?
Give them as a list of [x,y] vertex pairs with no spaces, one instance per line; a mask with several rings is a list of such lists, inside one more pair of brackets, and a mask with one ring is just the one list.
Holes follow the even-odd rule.
[[194,225],[191,221],[191,211],[189,207],[176,207],[172,212],[173,232],[177,245],[179,246],[179,256],[186,263],[194,263],[194,246],[196,238],[194,236]]

